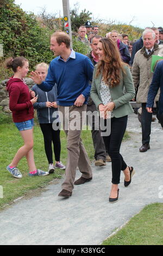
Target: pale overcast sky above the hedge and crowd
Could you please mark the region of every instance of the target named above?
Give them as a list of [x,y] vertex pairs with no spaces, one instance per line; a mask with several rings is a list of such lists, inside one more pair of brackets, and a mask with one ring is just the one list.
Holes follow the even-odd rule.
[[[86,9],[94,18],[126,23],[136,27],[163,27],[162,0],[154,2],[142,0],[69,0],[70,8],[79,3],[79,11]],[[24,11],[35,14],[45,7],[47,13],[60,13],[62,16],[62,0],[15,0]]]

